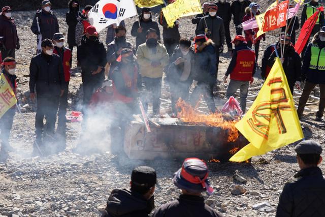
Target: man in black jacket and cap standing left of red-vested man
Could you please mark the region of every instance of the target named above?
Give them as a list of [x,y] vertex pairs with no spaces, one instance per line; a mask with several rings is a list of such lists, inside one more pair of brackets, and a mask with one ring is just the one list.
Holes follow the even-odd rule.
[[[44,39],[42,41],[42,53],[33,57],[29,66],[30,99],[35,101],[35,95],[37,94],[35,140],[41,149],[43,148],[43,151],[45,151],[45,147],[42,142],[53,141],[59,98],[64,93],[65,85],[62,60],[58,55],[53,54],[53,48],[52,41]],[[47,126],[46,132],[43,132],[44,117]],[[35,147],[33,153],[34,155],[40,154]]]

